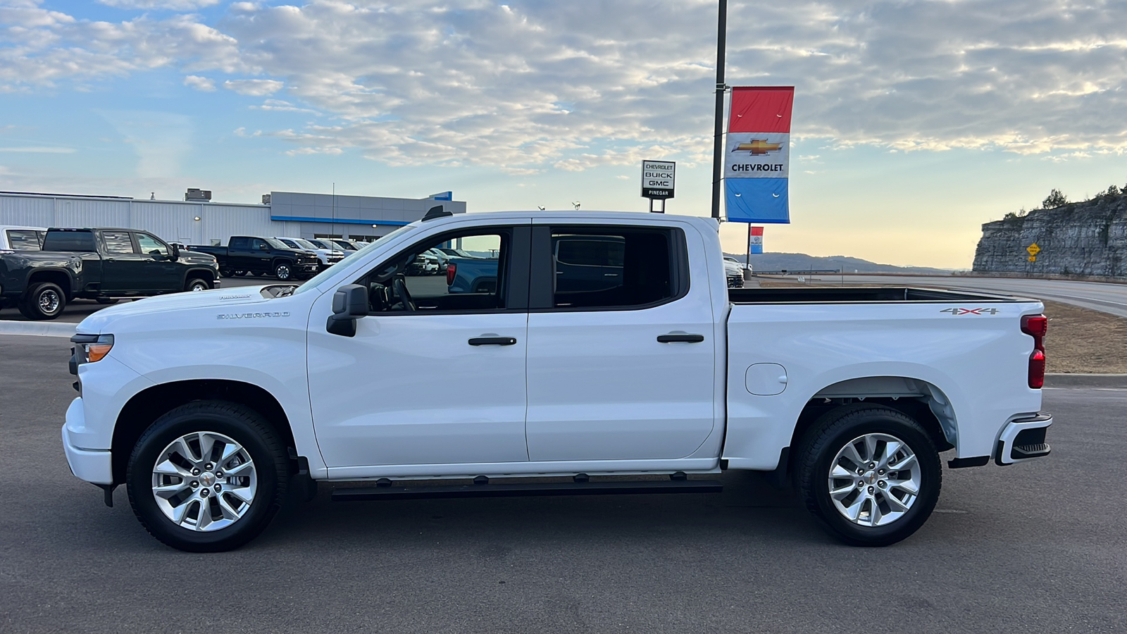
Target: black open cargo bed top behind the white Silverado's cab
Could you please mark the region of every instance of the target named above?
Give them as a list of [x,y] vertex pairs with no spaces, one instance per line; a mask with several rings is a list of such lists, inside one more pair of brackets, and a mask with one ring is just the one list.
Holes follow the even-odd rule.
[[859,303],[859,302],[1013,302],[1001,294],[912,287],[826,287],[807,289],[729,289],[733,303]]

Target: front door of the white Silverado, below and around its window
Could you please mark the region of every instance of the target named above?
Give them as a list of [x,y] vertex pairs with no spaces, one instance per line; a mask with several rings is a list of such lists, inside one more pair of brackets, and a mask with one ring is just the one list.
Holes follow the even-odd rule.
[[445,275],[405,273],[417,253],[449,239],[436,232],[373,262],[356,280],[369,289],[370,312],[355,336],[326,332],[332,292],[314,302],[309,389],[330,468],[529,459],[530,229],[458,235],[496,249],[500,284],[491,292],[451,294]]

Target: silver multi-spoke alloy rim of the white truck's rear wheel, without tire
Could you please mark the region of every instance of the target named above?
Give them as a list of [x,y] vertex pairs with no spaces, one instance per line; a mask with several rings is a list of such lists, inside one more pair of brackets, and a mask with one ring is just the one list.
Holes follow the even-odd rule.
[[867,433],[849,441],[829,464],[829,497],[845,519],[887,526],[920,495],[920,465],[903,440]]

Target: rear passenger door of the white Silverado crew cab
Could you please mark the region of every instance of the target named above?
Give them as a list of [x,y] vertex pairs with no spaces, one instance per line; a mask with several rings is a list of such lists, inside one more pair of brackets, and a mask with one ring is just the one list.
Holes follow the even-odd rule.
[[[539,227],[534,235],[539,234]],[[623,231],[625,235],[623,236]],[[553,228],[558,244],[567,231]],[[676,459],[693,454],[712,432],[716,420],[716,349],[708,284],[689,284],[690,272],[704,280],[703,264],[693,270],[666,262],[676,289],[653,275],[662,264],[654,259],[657,243],[628,228],[591,229],[602,240],[620,236],[625,244],[622,283],[611,291],[554,294],[553,307],[529,316],[529,458],[539,460]],[[676,231],[678,253],[704,262],[702,245],[686,253],[684,235]],[[663,243],[666,244],[666,243]],[[547,250],[547,249],[543,249]],[[554,249],[553,249],[554,250]],[[698,253],[701,252],[701,253]],[[640,254],[640,257],[639,257]],[[543,252],[533,249],[533,284],[550,284],[559,266],[544,265]],[[587,263],[600,270],[598,263]],[[614,270],[621,262],[607,262]],[[639,270],[639,266],[644,268]],[[539,275],[539,279],[536,278]],[[562,275],[561,275],[562,276]],[[664,285],[663,285],[664,284]],[[677,290],[682,289],[682,290]],[[539,297],[535,288],[532,297]],[[655,297],[668,296],[653,306]],[[672,299],[677,296],[680,299]],[[607,299],[610,298],[610,299]],[[649,301],[650,307],[600,309],[601,301]],[[573,306],[575,308],[573,308]],[[582,309],[578,309],[582,307]],[[660,343],[668,334],[703,335],[696,343]],[[678,337],[683,338],[683,337]]]

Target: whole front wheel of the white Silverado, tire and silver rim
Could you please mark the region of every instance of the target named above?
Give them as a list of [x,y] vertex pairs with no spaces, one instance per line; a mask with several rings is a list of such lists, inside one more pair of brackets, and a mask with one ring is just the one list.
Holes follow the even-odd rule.
[[137,439],[125,475],[130,504],[165,544],[192,553],[238,548],[285,500],[285,448],[254,410],[196,400],[157,419]]

